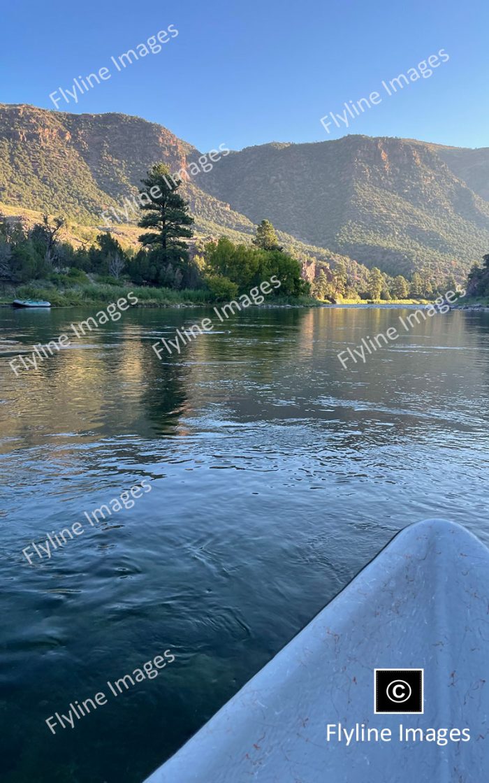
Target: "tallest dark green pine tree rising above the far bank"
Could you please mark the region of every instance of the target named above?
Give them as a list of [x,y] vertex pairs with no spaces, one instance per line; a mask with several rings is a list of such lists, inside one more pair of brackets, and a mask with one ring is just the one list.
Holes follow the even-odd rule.
[[177,193],[181,184],[171,178],[165,164],[159,163],[148,171],[147,179],[142,180],[144,187],[139,189],[141,209],[146,214],[142,215],[138,226],[153,229],[141,234],[139,241],[149,247],[160,269],[170,263],[186,271],[189,264],[189,251],[182,237],[192,236],[188,226],[194,221],[189,215],[189,203]]

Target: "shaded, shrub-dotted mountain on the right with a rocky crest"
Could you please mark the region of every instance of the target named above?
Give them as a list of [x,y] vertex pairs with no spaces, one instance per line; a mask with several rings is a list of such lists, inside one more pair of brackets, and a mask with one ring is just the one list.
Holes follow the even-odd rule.
[[366,265],[461,273],[489,249],[488,169],[489,150],[350,135],[248,147],[211,171],[205,187],[253,222],[266,214]]

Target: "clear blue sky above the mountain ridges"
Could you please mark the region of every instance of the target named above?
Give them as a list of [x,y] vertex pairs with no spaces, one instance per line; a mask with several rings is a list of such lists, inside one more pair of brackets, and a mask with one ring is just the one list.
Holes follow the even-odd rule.
[[[78,103],[59,110],[136,114],[200,150],[346,133],[489,146],[487,0],[16,0],[0,18],[2,103],[54,109],[49,94],[68,88]],[[117,70],[111,55],[171,24],[161,52]],[[440,49],[450,59],[430,78],[383,90]],[[325,132],[321,117],[372,91],[381,103]]]

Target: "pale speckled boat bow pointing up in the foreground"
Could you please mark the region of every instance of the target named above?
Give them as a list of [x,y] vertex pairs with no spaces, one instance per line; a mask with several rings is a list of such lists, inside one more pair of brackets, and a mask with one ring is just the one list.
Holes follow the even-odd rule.
[[[146,783],[488,781],[488,599],[475,536],[405,528]],[[397,669],[387,713],[375,669]],[[408,669],[422,713],[403,713]]]

